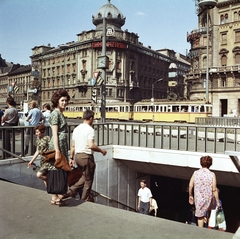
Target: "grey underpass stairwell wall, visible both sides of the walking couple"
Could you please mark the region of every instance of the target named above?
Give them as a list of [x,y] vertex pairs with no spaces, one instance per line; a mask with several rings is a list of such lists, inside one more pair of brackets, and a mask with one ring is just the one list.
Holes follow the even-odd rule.
[[[132,208],[136,208],[136,176],[137,173],[130,169],[121,160],[113,159],[113,147],[105,147],[107,155],[95,153],[96,171],[93,190],[117,200]],[[30,161],[31,157],[26,157]],[[35,161],[39,165],[39,161]],[[38,169],[27,168],[27,162],[19,159],[0,160],[0,178],[24,185],[27,187],[45,190],[42,180],[36,177]],[[98,196],[96,202],[114,207],[124,208],[118,203]]]

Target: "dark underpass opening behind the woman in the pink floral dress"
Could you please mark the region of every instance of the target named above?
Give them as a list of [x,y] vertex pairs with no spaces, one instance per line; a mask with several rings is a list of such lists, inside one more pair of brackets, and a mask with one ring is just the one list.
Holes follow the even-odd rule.
[[[188,184],[188,180],[150,176],[148,187],[158,203],[158,217],[186,222],[189,210]],[[240,188],[223,185],[218,185],[218,188],[226,217],[227,231],[234,233],[240,223]]]

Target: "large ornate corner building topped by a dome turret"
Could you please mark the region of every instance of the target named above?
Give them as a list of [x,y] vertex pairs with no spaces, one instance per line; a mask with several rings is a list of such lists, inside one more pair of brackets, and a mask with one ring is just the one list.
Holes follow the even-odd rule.
[[[152,84],[160,78],[163,80],[156,83],[154,98],[167,98],[170,63],[180,66],[182,75],[189,69],[189,63],[177,59],[172,51],[166,54],[167,50],[164,53],[152,50],[138,41],[136,33],[122,30],[126,18],[109,0],[92,16],[96,28],[77,34],[77,41],[57,47],[49,44],[32,48],[32,71],[35,73],[30,88],[38,90],[39,102],[49,102],[52,93],[64,87],[71,97],[69,106],[93,103],[90,81],[101,72],[97,59],[102,53],[103,18],[106,19],[106,55],[109,59],[106,103],[150,100]],[[97,103],[100,95],[98,87]]]

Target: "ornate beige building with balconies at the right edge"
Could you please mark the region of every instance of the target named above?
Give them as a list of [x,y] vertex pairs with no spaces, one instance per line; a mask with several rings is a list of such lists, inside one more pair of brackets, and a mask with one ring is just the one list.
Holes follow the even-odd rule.
[[240,0],[218,0],[216,6],[208,10],[199,7],[201,2],[196,0],[198,28],[187,35],[191,44],[191,70],[186,76],[189,97],[192,100],[206,100],[208,45],[208,92],[213,116],[239,115]]

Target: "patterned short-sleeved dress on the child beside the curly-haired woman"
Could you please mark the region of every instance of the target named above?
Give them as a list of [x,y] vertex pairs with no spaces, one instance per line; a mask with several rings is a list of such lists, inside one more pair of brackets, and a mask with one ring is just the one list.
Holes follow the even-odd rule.
[[49,136],[37,138],[37,141],[36,141],[36,146],[37,146],[37,149],[38,149],[40,157],[41,157],[39,172],[43,173],[43,174],[47,173],[48,170],[55,168],[54,161],[45,162],[44,157],[42,156],[42,153],[48,150],[49,142],[50,142]]

